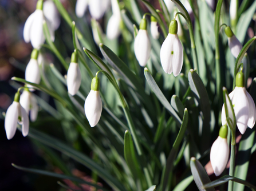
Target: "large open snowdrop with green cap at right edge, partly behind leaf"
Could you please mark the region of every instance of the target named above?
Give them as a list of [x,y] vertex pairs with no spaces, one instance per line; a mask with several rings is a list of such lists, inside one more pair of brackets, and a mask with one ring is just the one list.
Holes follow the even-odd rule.
[[[241,134],[243,134],[245,133],[247,126],[253,128],[256,119],[256,109],[253,98],[245,89],[245,76],[242,72],[238,72],[235,82],[236,87],[229,94],[229,97],[234,106],[235,117],[237,119],[237,127]],[[222,125],[226,124],[227,122],[224,104],[222,107],[221,118]]]

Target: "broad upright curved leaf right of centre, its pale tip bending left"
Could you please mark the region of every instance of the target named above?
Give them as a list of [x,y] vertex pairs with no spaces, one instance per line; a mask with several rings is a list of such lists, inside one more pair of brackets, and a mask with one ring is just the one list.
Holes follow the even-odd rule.
[[208,149],[210,144],[210,120],[211,120],[211,108],[210,108],[210,100],[204,87],[204,84],[198,74],[194,70],[190,70],[188,72],[188,81],[190,83],[190,88],[192,92],[194,92],[196,100],[198,100],[200,105],[200,110],[202,111],[202,119],[203,119],[203,129],[202,129],[202,143],[201,151],[204,152]]

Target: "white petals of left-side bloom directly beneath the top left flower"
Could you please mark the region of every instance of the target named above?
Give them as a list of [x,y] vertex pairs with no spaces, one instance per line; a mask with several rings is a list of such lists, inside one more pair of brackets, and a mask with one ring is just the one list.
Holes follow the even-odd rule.
[[[35,84],[40,83],[40,69],[37,60],[31,58],[25,71],[25,80]],[[28,86],[31,87],[31,86]]]

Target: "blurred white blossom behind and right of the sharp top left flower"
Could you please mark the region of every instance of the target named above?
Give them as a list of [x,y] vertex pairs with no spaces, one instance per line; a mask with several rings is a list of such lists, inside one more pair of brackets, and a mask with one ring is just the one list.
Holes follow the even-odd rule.
[[43,12],[45,18],[49,21],[49,26],[53,30],[57,30],[60,26],[61,19],[60,14],[52,0],[47,0],[44,2]]

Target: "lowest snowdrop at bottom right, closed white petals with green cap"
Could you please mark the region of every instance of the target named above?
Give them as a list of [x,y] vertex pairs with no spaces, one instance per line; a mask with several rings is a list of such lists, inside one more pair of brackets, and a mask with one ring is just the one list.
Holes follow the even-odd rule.
[[227,125],[219,130],[219,136],[211,146],[211,166],[216,176],[219,176],[226,169],[229,160],[229,145],[227,144]]

